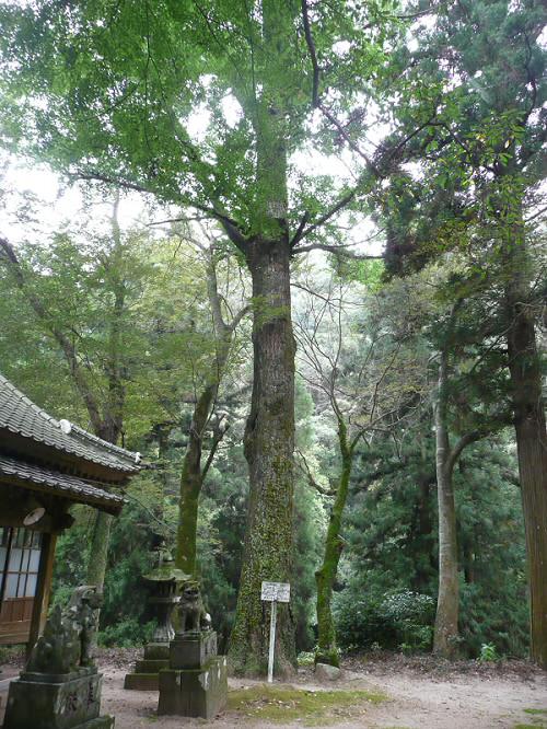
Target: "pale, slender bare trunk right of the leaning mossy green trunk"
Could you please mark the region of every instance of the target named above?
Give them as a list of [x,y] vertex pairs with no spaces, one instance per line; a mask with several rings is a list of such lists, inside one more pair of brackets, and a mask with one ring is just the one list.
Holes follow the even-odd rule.
[[439,593],[437,600],[433,652],[453,658],[456,653],[459,583],[457,570],[456,506],[450,465],[446,425],[447,356],[441,352],[439,386],[434,406],[435,465],[439,504]]

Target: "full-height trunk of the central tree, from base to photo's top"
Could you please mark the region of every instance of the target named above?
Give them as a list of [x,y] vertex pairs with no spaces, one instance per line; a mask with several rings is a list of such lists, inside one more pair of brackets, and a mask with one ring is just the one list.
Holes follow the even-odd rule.
[[[294,72],[288,45],[298,5],[263,0],[261,38],[256,48],[261,90],[248,103],[256,136],[256,207],[253,235],[244,246],[253,279],[254,379],[245,432],[249,468],[247,529],[235,624],[229,659],[237,673],[265,673],[267,616],[260,602],[263,580],[289,581],[292,575],[294,354],[291,322],[290,256],[287,220],[287,129]],[[245,103],[245,102],[244,102]],[[278,611],[276,667],[296,666],[294,625],[288,605]]]

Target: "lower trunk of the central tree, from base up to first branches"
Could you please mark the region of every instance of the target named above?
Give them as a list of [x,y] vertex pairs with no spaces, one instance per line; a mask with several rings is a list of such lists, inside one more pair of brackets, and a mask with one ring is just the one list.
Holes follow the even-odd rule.
[[[268,624],[263,580],[288,582],[292,563],[294,339],[289,244],[256,240],[247,255],[253,278],[254,381],[245,432],[251,490],[243,568],[229,658],[236,673],[264,673]],[[295,662],[294,626],[287,605],[278,611],[276,664]]]

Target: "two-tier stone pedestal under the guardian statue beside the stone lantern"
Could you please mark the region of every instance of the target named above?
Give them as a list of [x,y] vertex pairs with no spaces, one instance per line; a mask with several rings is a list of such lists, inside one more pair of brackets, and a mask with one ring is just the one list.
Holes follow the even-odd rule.
[[170,645],[170,668],[160,671],[158,714],[212,719],[226,698],[226,659],[217,656],[217,634],[176,635]]

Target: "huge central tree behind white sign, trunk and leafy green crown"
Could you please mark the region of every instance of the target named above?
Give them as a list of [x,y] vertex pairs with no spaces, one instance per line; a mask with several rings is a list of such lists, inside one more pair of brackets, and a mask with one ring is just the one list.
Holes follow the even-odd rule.
[[[5,143],[75,177],[193,206],[223,227],[251,271],[251,498],[230,647],[240,672],[266,664],[260,581],[287,581],[291,574],[290,261],[313,245],[337,246],[335,217],[358,201],[363,184],[358,175],[357,185],[339,189],[329,175],[299,171],[291,157],[314,136],[319,65],[322,99],[336,111],[346,106],[350,120],[382,68],[392,12],[387,1],[303,8],[304,14],[295,0],[62,7],[42,0],[0,8]],[[318,34],[312,62],[311,24]],[[40,101],[28,103],[33,96]],[[331,131],[339,132],[328,116],[324,121],[314,141],[329,152]],[[295,653],[286,609],[278,636],[279,666],[289,668]]]

